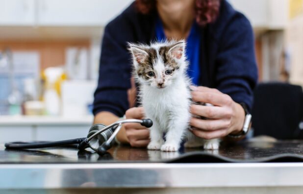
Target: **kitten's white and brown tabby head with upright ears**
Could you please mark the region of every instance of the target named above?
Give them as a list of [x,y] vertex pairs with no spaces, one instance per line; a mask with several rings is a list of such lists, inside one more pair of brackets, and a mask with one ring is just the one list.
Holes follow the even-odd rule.
[[155,88],[171,85],[184,69],[184,42],[153,44],[151,46],[129,45],[133,56],[135,76],[141,84]]

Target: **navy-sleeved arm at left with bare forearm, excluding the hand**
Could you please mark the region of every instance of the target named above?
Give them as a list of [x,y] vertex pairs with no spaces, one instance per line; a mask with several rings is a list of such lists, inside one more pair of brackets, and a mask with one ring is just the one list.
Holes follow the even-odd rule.
[[131,88],[131,64],[126,48],[127,41],[133,41],[134,33],[125,15],[124,11],[104,30],[98,86],[94,94],[95,123],[117,121],[129,108],[127,91]]

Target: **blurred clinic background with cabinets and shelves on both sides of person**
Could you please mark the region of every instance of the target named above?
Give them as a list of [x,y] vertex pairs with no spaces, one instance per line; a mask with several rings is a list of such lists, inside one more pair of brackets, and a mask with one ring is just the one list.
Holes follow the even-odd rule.
[[[131,2],[0,0],[2,137],[16,123],[28,140],[51,139],[54,126],[88,130],[104,26]],[[252,23],[259,81],[303,85],[303,0],[229,2]]]

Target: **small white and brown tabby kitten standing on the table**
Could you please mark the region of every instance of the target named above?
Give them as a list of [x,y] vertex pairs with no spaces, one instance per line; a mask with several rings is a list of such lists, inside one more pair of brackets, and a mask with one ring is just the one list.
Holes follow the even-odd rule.
[[[218,149],[219,141],[203,140],[189,130],[191,81],[186,75],[185,41],[148,45],[129,44],[134,77],[146,117],[153,121],[148,149],[177,151],[183,138],[186,147]],[[163,134],[166,133],[166,141]]]

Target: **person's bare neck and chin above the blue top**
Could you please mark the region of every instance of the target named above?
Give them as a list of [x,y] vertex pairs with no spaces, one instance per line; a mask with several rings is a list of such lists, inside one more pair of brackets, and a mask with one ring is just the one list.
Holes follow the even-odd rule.
[[157,11],[168,39],[186,39],[195,18],[194,0],[158,0]]

